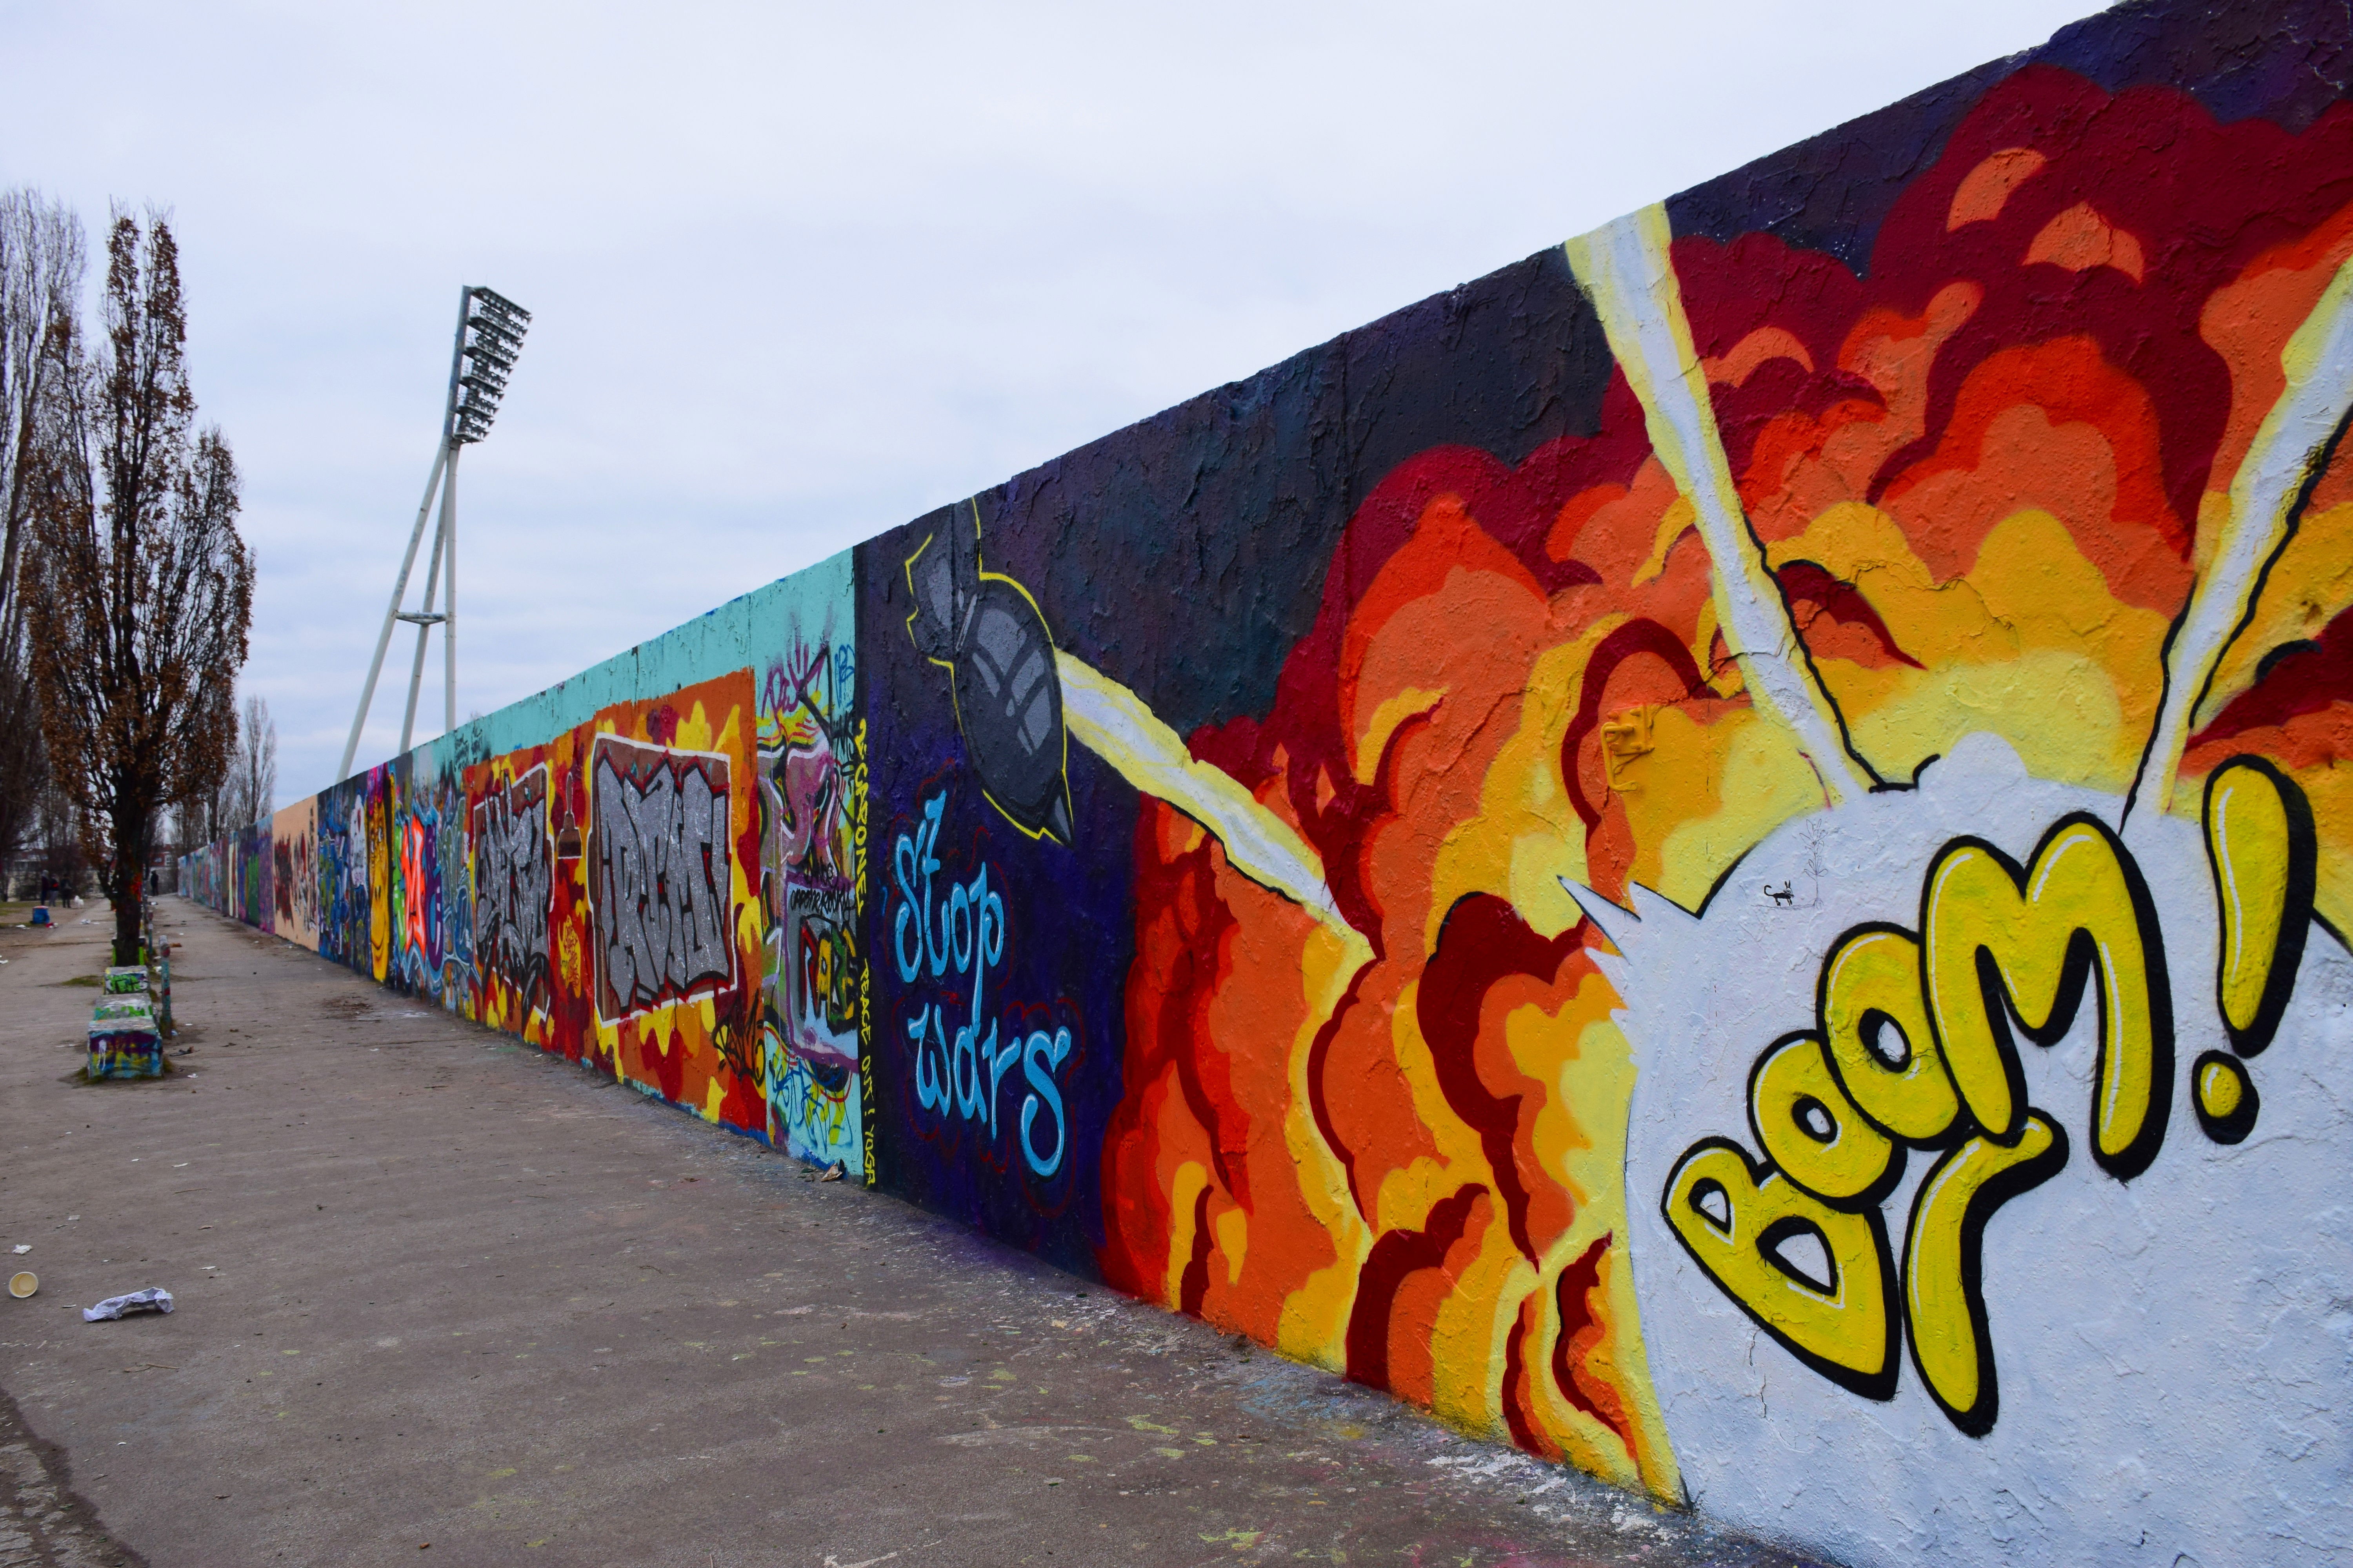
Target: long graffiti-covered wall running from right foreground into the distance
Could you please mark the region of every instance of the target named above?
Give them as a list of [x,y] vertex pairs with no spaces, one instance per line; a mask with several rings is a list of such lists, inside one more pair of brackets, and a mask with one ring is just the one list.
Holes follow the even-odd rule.
[[2353,1552],[2348,33],[2106,12],[188,886],[1793,1549]]

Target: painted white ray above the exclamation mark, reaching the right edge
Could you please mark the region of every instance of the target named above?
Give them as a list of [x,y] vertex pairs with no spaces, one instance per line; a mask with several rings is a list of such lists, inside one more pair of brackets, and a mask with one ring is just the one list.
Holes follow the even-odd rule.
[[2165,811],[2181,773],[2181,748],[2191,719],[2205,701],[2214,668],[2254,614],[2264,574],[2294,534],[2289,515],[2304,494],[2313,463],[2353,407],[2353,261],[2337,268],[2313,313],[2280,350],[2287,388],[2271,404],[2254,444],[2231,475],[2231,510],[2221,541],[2207,562],[2191,604],[2174,623],[2165,649],[2165,703],[2148,731],[2148,755],[2132,783],[2125,811],[2146,795]]

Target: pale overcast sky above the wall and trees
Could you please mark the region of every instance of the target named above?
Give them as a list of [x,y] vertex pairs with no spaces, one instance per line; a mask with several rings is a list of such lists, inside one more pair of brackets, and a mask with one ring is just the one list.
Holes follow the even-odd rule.
[[534,322],[464,470],[461,715],[2089,9],[0,0],[0,183],[174,212],[287,799],[464,282]]

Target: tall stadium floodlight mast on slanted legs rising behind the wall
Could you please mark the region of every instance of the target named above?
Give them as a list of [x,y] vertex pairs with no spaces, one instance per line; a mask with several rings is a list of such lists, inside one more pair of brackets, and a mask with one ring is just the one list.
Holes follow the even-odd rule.
[[[442,628],[442,729],[456,729],[456,454],[489,435],[489,421],[499,416],[499,397],[506,395],[506,376],[513,374],[515,355],[522,353],[522,334],[529,329],[532,313],[504,294],[478,284],[459,292],[442,440],[433,451],[426,498],[416,503],[409,552],[400,557],[400,576],[393,578],[393,602],[384,609],[376,656],[367,663],[367,686],[360,689],[360,712],[351,717],[351,741],[344,743],[344,766],[336,778],[351,778],[351,759],[360,752],[360,729],[367,724],[369,703],[376,701],[376,677],[384,675],[384,654],[393,646],[395,621],[416,628],[416,663],[409,668],[409,705],[400,717],[400,750],[409,750],[409,736],[416,729],[416,691],[426,679],[426,635],[435,625]],[[409,571],[416,567],[416,545],[424,543],[435,494],[440,496],[440,520],[433,524],[424,604],[400,609],[400,599],[409,592]],[[440,609],[433,609],[435,581],[445,583]]]

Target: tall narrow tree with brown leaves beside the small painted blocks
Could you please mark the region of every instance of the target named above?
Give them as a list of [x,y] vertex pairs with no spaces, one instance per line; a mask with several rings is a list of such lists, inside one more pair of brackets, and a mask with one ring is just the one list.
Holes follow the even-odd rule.
[[169,223],[115,212],[106,336],[85,350],[61,315],[42,339],[26,623],[49,764],[104,867],[118,964],[139,950],[160,809],[228,766],[254,614],[238,465],[219,428],[195,430],[186,341]]

